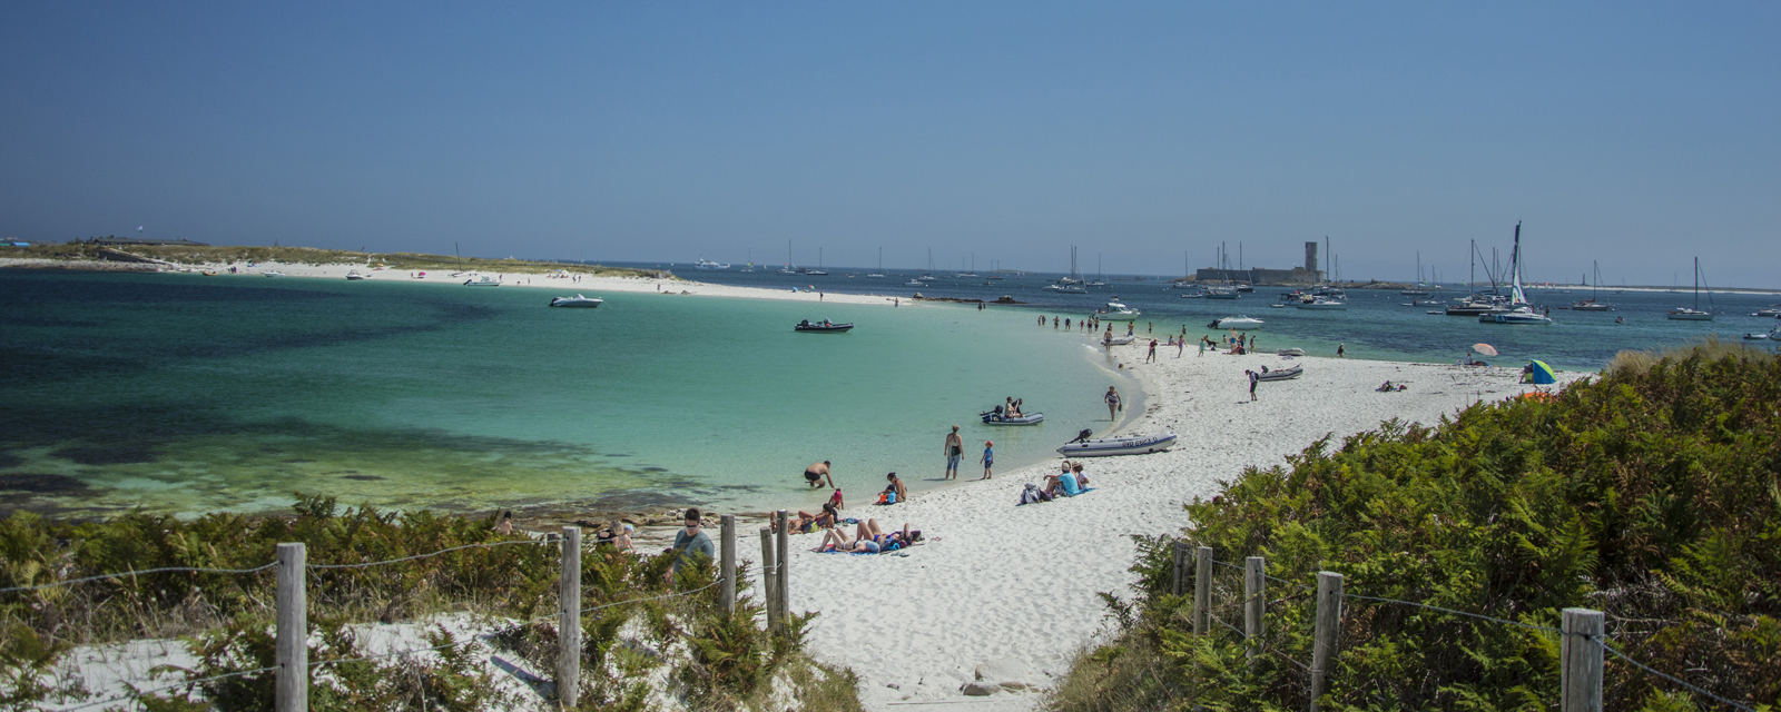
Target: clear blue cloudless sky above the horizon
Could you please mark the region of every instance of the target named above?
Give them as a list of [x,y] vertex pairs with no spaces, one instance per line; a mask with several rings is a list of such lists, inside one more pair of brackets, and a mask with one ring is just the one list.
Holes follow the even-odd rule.
[[1781,4],[0,5],[0,235],[1781,287]]

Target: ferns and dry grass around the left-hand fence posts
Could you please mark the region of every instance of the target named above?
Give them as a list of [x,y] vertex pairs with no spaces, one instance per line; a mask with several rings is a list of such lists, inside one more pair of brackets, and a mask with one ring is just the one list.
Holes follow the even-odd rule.
[[[557,545],[499,534],[493,518],[342,509],[319,497],[299,498],[292,516],[269,518],[185,522],[132,513],[55,522],[16,513],[0,520],[0,589],[159,568],[251,570],[139,573],[0,593],[0,707],[105,700],[66,673],[77,646],[100,643],[182,641],[198,664],[164,669],[160,685],[271,668],[276,573],[265,566],[283,541],[306,543],[312,566],[394,561],[310,570],[308,655],[326,666],[310,682],[312,710],[557,708],[541,694],[511,694],[511,684],[495,680],[506,673],[468,646],[470,634],[479,634],[508,660],[552,676]],[[426,555],[433,552],[445,554]],[[784,632],[769,632],[741,564],[728,614],[712,586],[718,570],[700,557],[670,582],[675,557],[622,554],[611,545],[582,555],[582,607],[609,607],[582,616],[577,708],[778,712],[796,701],[807,710],[858,710],[853,673],[805,655],[809,616],[789,616]],[[442,616],[474,619],[476,630],[454,632],[438,625]],[[365,628],[378,623],[410,623],[426,630],[413,648],[440,650],[365,660],[374,655]],[[274,682],[274,673],[262,671],[139,700],[157,712],[271,710]]]

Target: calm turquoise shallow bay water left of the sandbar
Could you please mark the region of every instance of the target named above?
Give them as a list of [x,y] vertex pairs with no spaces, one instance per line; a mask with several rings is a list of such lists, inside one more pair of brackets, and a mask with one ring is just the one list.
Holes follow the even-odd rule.
[[[1106,427],[1086,338],[1019,310],[399,281],[0,271],[0,509],[807,506],[935,486],[947,425],[999,470]],[[568,290],[565,290],[568,292]],[[798,319],[853,320],[798,335]],[[1047,420],[992,429],[1006,395]],[[967,477],[978,468],[964,466]]]

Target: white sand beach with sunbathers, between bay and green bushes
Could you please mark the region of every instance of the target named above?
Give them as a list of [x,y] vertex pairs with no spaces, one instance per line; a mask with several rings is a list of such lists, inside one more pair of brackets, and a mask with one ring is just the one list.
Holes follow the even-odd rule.
[[[1129,596],[1131,536],[1177,532],[1188,523],[1183,502],[1213,497],[1245,466],[1284,465],[1323,434],[1341,438],[1387,418],[1434,424],[1478,399],[1533,388],[1517,384],[1519,368],[1298,358],[1302,377],[1263,383],[1259,400],[1248,402],[1243,370],[1288,360],[1195,356],[1193,349],[1175,358],[1174,351],[1159,347],[1158,363],[1147,365],[1140,345],[1113,349],[1147,392],[1147,413],[1122,433],[1174,431],[1181,440],[1161,454],[1086,459],[1094,486],[1086,495],[1015,507],[1024,484],[1061,457],[978,482],[971,479],[981,468],[967,465],[958,486],[846,511],[887,529],[908,522],[923,530],[930,541],[907,555],[814,554],[817,536],[793,538],[793,611],[821,612],[810,625],[810,648],[860,675],[867,708],[917,701],[924,708],[953,707],[946,701],[972,710],[1033,708],[1040,692],[967,698],[960,687],[981,664],[996,669],[987,682],[1049,687],[1079,648],[1106,632],[1097,593]],[[1375,392],[1387,379],[1409,388]],[[1056,434],[1061,445],[1072,433]],[[915,477],[944,468],[942,438],[933,436],[935,472]],[[741,550],[744,559],[759,557]]]

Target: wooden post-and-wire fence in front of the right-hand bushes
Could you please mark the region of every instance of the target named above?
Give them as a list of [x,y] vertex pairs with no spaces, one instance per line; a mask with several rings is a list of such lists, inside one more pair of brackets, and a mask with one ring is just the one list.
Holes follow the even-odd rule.
[[[1660,680],[1665,680],[1669,684],[1679,685],[1679,687],[1687,689],[1688,692],[1694,692],[1694,694],[1699,694],[1703,698],[1713,700],[1713,701],[1717,701],[1720,705],[1726,705],[1729,708],[1735,708],[1735,710],[1756,712],[1749,703],[1742,703],[1742,701],[1736,701],[1736,700],[1728,700],[1724,696],[1708,692],[1706,689],[1703,689],[1703,687],[1699,687],[1696,684],[1690,684],[1690,682],[1681,680],[1678,676],[1672,676],[1672,675],[1667,675],[1663,671],[1658,671],[1658,669],[1655,669],[1655,668],[1651,668],[1651,666],[1647,666],[1644,662],[1639,662],[1639,660],[1631,659],[1624,651],[1615,650],[1612,644],[1608,644],[1608,635],[1606,635],[1606,628],[1605,628],[1606,616],[1601,611],[1580,609],[1580,607],[1578,609],[1564,609],[1560,612],[1562,614],[1562,625],[1555,628],[1555,627],[1549,627],[1549,625],[1535,625],[1535,623],[1526,623],[1526,621],[1514,621],[1514,619],[1507,619],[1507,618],[1485,616],[1485,614],[1478,614],[1478,612],[1457,611],[1457,609],[1448,609],[1448,607],[1441,607],[1441,605],[1428,605],[1428,603],[1421,603],[1421,602],[1409,602],[1409,600],[1398,600],[1398,598],[1384,598],[1384,596],[1368,596],[1368,595],[1359,595],[1359,593],[1346,593],[1343,589],[1343,575],[1341,573],[1334,573],[1334,571],[1318,571],[1316,573],[1316,586],[1313,587],[1313,586],[1305,586],[1302,582],[1293,582],[1293,580],[1288,580],[1288,578],[1279,578],[1279,577],[1268,575],[1266,573],[1266,559],[1265,557],[1247,557],[1245,562],[1243,562],[1243,566],[1213,559],[1213,548],[1211,546],[1195,546],[1193,548],[1193,555],[1191,555],[1191,564],[1193,564],[1193,571],[1191,573],[1188,571],[1188,564],[1190,564],[1188,543],[1186,541],[1175,541],[1174,543],[1174,580],[1172,580],[1172,591],[1174,591],[1175,596],[1181,596],[1183,589],[1186,586],[1193,587],[1193,591],[1191,591],[1193,593],[1193,609],[1191,609],[1193,612],[1190,616],[1191,621],[1193,621],[1193,634],[1195,635],[1211,634],[1211,632],[1215,632],[1211,628],[1211,625],[1216,623],[1224,630],[1231,630],[1240,639],[1243,639],[1245,646],[1248,648],[1248,659],[1250,659],[1252,664],[1261,655],[1272,655],[1272,657],[1275,657],[1279,660],[1291,662],[1293,666],[1304,669],[1309,675],[1311,712],[1318,712],[1320,710],[1320,707],[1322,707],[1320,698],[1323,696],[1323,692],[1329,691],[1330,662],[1334,660],[1336,650],[1338,650],[1338,641],[1336,641],[1338,635],[1336,634],[1339,630],[1339,623],[1341,623],[1341,616],[1343,616],[1343,602],[1346,602],[1346,600],[1362,600],[1362,602],[1386,603],[1386,605],[1405,605],[1405,607],[1435,611],[1435,612],[1441,612],[1441,614],[1446,614],[1446,616],[1462,616],[1462,618],[1480,619],[1480,621],[1485,621],[1485,623],[1509,625],[1509,627],[1535,630],[1535,632],[1541,632],[1541,634],[1557,634],[1557,635],[1560,635],[1558,662],[1560,662],[1560,708],[1562,710],[1598,710],[1599,712],[1603,708],[1601,707],[1603,705],[1601,700],[1603,700],[1603,682],[1605,682],[1605,675],[1603,673],[1605,673],[1605,653],[1606,653],[1606,655],[1614,655],[1614,657],[1621,659],[1622,662],[1626,662],[1631,668],[1637,668],[1637,669],[1644,671],[1646,675],[1651,675],[1655,678],[1660,678]],[[1225,621],[1225,619],[1222,619],[1222,618],[1218,618],[1215,614],[1215,611],[1222,611],[1222,607],[1215,607],[1215,603],[1213,603],[1213,593],[1216,589],[1215,577],[1213,577],[1213,566],[1224,566],[1224,568],[1238,570],[1238,571],[1243,573],[1243,593],[1241,593],[1241,596],[1236,598],[1236,600],[1229,600],[1229,596],[1225,596],[1227,603],[1241,605],[1241,609],[1243,609],[1243,621],[1245,621],[1243,628],[1238,628],[1236,625],[1232,625],[1232,623],[1229,623],[1229,621]],[[1268,644],[1268,637],[1266,637],[1265,627],[1263,627],[1266,611],[1270,607],[1270,602],[1266,600],[1266,584],[1268,582],[1277,582],[1277,584],[1291,586],[1291,587],[1300,589],[1304,593],[1314,593],[1314,596],[1316,596],[1316,602],[1314,602],[1314,605],[1316,605],[1314,611],[1316,612],[1314,612],[1314,618],[1313,618],[1314,630],[1313,630],[1313,646],[1311,646],[1311,664],[1309,666],[1305,666],[1302,660],[1295,659],[1293,655],[1288,655],[1288,653],[1273,648],[1272,644]],[[1281,603],[1281,602],[1293,600],[1293,598],[1302,598],[1304,593],[1293,595],[1293,596],[1288,596],[1288,598],[1281,598],[1281,600],[1277,600],[1273,603]]]

